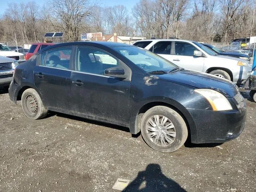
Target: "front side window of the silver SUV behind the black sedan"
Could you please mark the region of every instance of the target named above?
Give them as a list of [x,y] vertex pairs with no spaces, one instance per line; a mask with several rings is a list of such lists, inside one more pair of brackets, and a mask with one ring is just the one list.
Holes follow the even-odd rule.
[[195,48],[190,43],[186,42],[175,42],[175,55],[183,55],[183,56],[194,56],[194,51],[197,51],[198,49]]

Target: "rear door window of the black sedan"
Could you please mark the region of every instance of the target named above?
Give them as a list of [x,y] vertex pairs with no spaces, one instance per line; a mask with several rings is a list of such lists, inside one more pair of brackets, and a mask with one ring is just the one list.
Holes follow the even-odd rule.
[[69,69],[72,47],[48,50],[40,55],[40,66]]

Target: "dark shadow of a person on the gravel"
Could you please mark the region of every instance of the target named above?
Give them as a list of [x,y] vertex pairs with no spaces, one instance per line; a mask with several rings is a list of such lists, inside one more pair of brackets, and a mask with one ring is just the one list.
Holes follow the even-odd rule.
[[125,191],[129,192],[186,192],[174,180],[166,177],[158,164],[149,164],[146,170],[138,172]]

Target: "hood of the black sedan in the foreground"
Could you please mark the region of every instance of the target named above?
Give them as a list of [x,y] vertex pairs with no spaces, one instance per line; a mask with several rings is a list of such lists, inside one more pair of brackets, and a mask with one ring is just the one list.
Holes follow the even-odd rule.
[[174,83],[186,84],[198,89],[212,89],[222,93],[227,98],[232,98],[238,93],[236,84],[217,76],[191,71],[180,70],[168,74],[158,75],[162,80]]

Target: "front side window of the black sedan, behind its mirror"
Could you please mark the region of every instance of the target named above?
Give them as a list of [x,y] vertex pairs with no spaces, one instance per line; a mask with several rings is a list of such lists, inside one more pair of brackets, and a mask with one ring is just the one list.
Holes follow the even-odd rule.
[[95,48],[78,47],[76,71],[103,75],[105,69],[118,65],[118,60],[106,52]]

